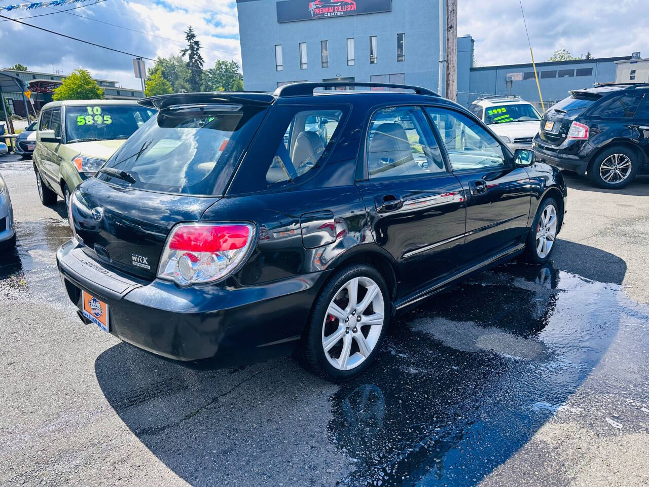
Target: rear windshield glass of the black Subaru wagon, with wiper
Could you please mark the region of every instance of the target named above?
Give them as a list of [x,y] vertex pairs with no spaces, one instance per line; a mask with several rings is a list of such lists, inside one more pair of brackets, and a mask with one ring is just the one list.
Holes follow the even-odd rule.
[[221,195],[264,110],[251,105],[162,110],[125,142],[97,178],[143,190]]

